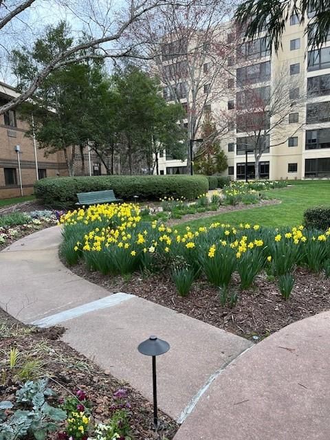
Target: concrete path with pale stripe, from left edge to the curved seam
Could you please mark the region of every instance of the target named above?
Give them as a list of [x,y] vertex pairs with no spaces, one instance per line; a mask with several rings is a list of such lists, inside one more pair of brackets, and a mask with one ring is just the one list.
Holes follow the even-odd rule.
[[239,338],[137,296],[109,294],[58,259],[61,230],[42,230],[0,252],[0,305],[25,323],[63,325],[63,340],[152,399],[151,358],[137,345],[170,343],[157,361],[158,404],[183,421],[212,380],[251,347]]

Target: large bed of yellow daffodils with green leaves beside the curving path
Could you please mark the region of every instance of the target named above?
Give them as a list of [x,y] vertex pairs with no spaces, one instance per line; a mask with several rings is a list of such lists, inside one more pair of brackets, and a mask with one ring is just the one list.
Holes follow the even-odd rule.
[[[167,288],[173,292],[176,287],[179,295],[188,296],[180,300],[181,305],[184,301],[190,304],[189,296],[198,289],[200,299],[204,292],[212,292],[207,296],[214,297],[223,310],[230,309],[231,313],[242,306],[246,299],[243,292],[252,291],[258,297],[260,281],[271,283],[276,301],[283,304],[292,304],[300,274],[314,281],[320,279],[321,286],[329,285],[330,230],[305,230],[303,225],[274,229],[248,223],[238,227],[213,223],[209,228],[187,227],[181,231],[157,221],[142,221],[140,214],[139,206],[132,203],[68,212],[61,217],[63,258],[68,265],[80,263],[85,270],[108,279],[127,278],[134,273],[146,279],[148,274],[156,286],[166,274],[172,280],[170,285],[166,283]],[[319,306],[317,311],[327,308],[324,300]],[[203,320],[208,321],[206,309]],[[263,333],[267,329],[265,325]]]

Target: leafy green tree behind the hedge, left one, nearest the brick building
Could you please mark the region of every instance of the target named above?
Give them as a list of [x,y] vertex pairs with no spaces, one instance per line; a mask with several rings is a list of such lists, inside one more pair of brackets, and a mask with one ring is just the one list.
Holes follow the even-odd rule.
[[[47,65],[55,52],[65,50],[71,43],[69,28],[61,22],[54,28],[47,28],[32,50],[14,51],[12,62],[19,89],[34,76],[36,63]],[[69,175],[74,175],[76,148],[80,148],[83,159],[87,141],[96,135],[93,102],[101,85],[100,61],[72,63],[47,76],[36,90],[34,102],[25,104],[26,117],[34,114],[33,131],[39,145],[46,154],[63,151]],[[85,170],[84,163],[83,166]]]

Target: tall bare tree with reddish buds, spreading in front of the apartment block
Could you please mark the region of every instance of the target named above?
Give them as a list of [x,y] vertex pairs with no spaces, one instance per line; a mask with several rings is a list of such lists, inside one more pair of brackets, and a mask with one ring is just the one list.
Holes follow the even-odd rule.
[[[192,0],[185,8],[168,5],[146,14],[133,25],[132,39],[147,41],[145,53],[153,58],[151,69],[162,80],[164,98],[185,109],[187,172],[190,142],[200,137],[205,113],[216,113],[227,94],[228,58],[234,55],[236,36],[228,38],[232,2]],[[233,38],[232,38],[233,37]],[[217,104],[216,104],[217,103]],[[214,126],[214,135],[219,135]]]

